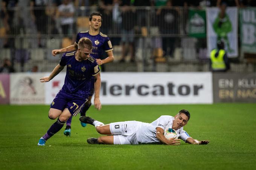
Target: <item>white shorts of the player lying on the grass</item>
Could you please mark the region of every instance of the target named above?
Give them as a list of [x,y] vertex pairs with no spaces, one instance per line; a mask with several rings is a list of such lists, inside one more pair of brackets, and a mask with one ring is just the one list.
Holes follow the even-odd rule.
[[139,144],[136,131],[142,122],[125,121],[110,123],[110,132],[114,137],[114,144]]

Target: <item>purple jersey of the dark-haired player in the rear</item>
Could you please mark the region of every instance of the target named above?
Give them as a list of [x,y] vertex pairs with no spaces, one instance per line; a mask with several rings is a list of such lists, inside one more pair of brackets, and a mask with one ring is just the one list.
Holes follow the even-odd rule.
[[76,36],[76,44],[78,44],[78,41],[83,37],[89,38],[93,43],[93,50],[90,55],[94,59],[100,59],[103,51],[108,52],[113,50],[108,36],[102,34],[101,32],[98,35],[90,35],[89,31],[79,32]]

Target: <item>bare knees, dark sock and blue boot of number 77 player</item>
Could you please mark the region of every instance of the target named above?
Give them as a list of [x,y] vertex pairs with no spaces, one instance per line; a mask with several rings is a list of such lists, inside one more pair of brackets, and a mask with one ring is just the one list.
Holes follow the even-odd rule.
[[[50,111],[51,109],[53,108],[50,108]],[[55,114],[51,113],[50,111],[49,111],[49,117],[53,118]],[[52,126],[50,126],[50,128],[46,132],[46,134],[40,138],[38,142],[38,146],[44,146],[45,142],[64,126],[65,122],[69,119],[70,116],[71,116],[70,111],[67,108],[65,108],[59,115],[58,120],[55,123],[53,123]]]

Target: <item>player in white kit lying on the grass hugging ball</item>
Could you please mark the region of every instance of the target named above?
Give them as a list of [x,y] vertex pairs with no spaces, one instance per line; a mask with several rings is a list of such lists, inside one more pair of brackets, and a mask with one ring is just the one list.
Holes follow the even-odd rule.
[[[88,116],[81,116],[79,120],[89,123],[96,127],[100,134],[108,135],[99,138],[88,138],[89,144],[168,144],[179,145],[180,139],[190,144],[208,144],[209,140],[196,140],[183,130],[187,124],[190,113],[187,110],[181,110],[175,116],[160,116],[152,123],[138,121],[115,122],[104,125],[102,122],[92,119]],[[167,139],[163,135],[167,128],[175,129],[178,139]]]

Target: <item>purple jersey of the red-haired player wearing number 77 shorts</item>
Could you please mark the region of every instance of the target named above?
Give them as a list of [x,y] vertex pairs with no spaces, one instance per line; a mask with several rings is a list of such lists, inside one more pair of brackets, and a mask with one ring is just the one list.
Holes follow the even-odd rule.
[[91,56],[87,60],[76,60],[76,52],[65,53],[59,62],[61,66],[67,65],[65,83],[62,90],[86,99],[90,95],[90,89],[92,88],[91,77],[98,74],[100,69],[96,60]]

